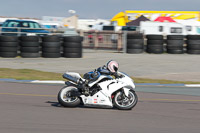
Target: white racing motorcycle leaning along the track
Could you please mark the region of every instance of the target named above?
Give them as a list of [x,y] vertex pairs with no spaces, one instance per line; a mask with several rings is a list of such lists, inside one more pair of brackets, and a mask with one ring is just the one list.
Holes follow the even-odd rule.
[[64,107],[80,104],[89,107],[117,108],[131,110],[138,101],[133,80],[123,72],[114,78],[97,70],[84,74],[66,72],[63,78],[68,81],[58,93],[58,101]]

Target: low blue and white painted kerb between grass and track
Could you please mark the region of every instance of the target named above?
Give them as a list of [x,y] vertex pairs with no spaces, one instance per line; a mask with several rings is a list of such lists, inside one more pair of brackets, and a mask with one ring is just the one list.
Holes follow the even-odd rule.
[[[16,80],[16,79],[0,79],[4,82],[19,82],[19,83],[39,83],[39,84],[65,84],[61,80]],[[136,86],[166,86],[166,87],[200,87],[200,84],[160,84],[160,83],[135,83]]]

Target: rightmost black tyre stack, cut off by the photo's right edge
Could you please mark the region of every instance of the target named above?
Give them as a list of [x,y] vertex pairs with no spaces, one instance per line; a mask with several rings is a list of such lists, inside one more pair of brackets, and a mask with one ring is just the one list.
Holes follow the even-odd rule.
[[188,54],[200,54],[200,35],[188,35],[186,43]]

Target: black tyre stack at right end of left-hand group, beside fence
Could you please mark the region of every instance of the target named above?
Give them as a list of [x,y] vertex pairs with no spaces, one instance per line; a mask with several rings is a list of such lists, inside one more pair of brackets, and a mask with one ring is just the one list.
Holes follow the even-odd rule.
[[82,57],[82,41],[81,36],[66,36],[63,38],[63,57],[81,58]]

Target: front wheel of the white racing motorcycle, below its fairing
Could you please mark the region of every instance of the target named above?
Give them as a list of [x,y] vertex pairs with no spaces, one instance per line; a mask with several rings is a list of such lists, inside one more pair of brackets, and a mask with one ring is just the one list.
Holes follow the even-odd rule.
[[135,91],[130,90],[128,97],[125,96],[124,92],[118,91],[114,96],[113,104],[119,110],[131,110],[137,101],[138,97]]

